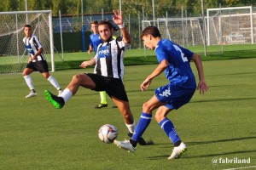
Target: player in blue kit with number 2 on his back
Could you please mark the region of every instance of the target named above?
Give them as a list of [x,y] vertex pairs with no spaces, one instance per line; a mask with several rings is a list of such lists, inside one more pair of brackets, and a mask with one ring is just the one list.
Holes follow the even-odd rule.
[[160,31],[155,26],[145,28],[141,38],[146,47],[154,49],[159,62],[156,69],[141,84],[142,91],[148,89],[154,77],[159,76],[163,71],[165,71],[169,83],[156,88],[154,96],[143,104],[142,115],[131,139],[114,142],[125,150],[135,151],[138,139],[151,122],[152,111],[158,109],[154,118],[168,138],[172,140],[174,149],[168,159],[174,159],[186,150],[186,144],[178,137],[175,127],[166,116],[170,111],[177,110],[187,104],[195,93],[196,82],[189,65],[190,60],[195,62],[198,71],[199,83],[197,88],[200,90],[200,94],[204,94],[207,91],[208,86],[204,78],[201,57],[170,40],[161,39]]

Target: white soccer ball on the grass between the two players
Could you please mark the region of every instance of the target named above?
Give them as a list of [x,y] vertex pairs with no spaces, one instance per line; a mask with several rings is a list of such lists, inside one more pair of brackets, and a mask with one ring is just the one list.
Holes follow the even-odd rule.
[[100,127],[98,135],[102,142],[111,144],[113,143],[114,139],[117,139],[119,132],[118,129],[113,125],[106,124]]

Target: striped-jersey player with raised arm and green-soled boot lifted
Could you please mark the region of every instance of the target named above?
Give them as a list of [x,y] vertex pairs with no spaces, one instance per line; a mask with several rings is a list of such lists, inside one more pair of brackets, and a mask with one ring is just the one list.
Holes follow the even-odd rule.
[[[68,99],[77,93],[79,87],[90,88],[95,91],[106,91],[108,96],[118,106],[119,111],[125,119],[128,128],[128,135],[132,135],[135,129],[135,122],[130,110],[129,100],[125,92],[123,77],[125,66],[123,63],[125,50],[130,47],[131,37],[125,28],[122,14],[119,10],[113,10],[113,22],[119,26],[123,37],[113,39],[113,24],[108,20],[102,20],[98,25],[98,30],[103,43],[98,46],[96,56],[84,61],[80,66],[86,68],[96,65],[96,73],[85,73],[73,76],[73,79],[63,90],[60,96],[51,94],[45,90],[44,94],[49,102],[57,109],[61,109]],[[139,139],[139,144],[146,144],[143,138]]]

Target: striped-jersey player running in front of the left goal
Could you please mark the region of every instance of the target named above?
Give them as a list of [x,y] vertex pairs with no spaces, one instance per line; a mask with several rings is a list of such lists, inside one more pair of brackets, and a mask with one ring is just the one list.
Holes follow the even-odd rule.
[[55,80],[55,77],[49,75],[48,64],[43,54],[44,48],[41,42],[39,41],[38,37],[32,34],[32,27],[30,25],[24,26],[23,30],[25,33],[23,42],[26,46],[29,59],[22,76],[24,77],[28,88],[31,90],[31,92],[26,95],[26,98],[37,96],[37,92],[32,82],[32,77],[30,76],[33,71],[39,71],[42,73],[43,77],[46,78],[58,90],[59,94],[61,94],[61,86]]

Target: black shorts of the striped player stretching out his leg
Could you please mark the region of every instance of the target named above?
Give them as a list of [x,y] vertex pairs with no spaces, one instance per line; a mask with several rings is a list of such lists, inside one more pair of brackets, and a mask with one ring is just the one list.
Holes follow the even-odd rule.
[[127,101],[128,97],[125,92],[125,86],[122,80],[118,78],[102,77],[100,75],[85,73],[88,75],[93,82],[96,83],[96,88],[92,89],[95,91],[106,91],[110,98],[115,97],[117,99]]

